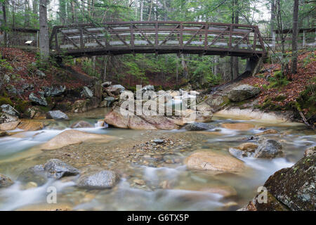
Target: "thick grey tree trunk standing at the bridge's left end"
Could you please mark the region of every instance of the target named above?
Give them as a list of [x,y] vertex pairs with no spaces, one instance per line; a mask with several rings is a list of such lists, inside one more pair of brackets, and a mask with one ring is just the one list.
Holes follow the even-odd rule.
[[49,37],[47,24],[47,0],[39,0],[39,51],[41,60],[48,60]]

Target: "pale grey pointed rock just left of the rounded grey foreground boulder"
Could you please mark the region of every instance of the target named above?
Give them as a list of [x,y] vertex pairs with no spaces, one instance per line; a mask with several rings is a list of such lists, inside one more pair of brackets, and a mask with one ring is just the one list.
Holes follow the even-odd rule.
[[79,174],[78,169],[57,159],[48,160],[48,162],[46,162],[44,165],[44,170],[48,173],[48,177],[53,177],[54,179],[60,179],[63,176],[74,176]]

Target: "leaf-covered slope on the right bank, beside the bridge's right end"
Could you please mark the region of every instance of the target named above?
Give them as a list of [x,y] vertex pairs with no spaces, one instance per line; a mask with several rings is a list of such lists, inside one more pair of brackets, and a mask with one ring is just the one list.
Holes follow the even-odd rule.
[[[270,84],[267,77],[273,76],[276,71],[281,70],[281,65],[268,63],[263,65],[261,71],[265,72],[261,73],[260,77],[258,75],[249,77],[243,79],[242,83],[261,87],[261,94],[257,98],[259,105],[262,105],[265,99],[274,99],[279,95],[284,96],[285,99],[282,101],[272,101],[272,103],[279,106],[287,105],[287,103],[295,101],[298,98],[301,92],[305,90],[306,85],[315,84],[315,82],[312,82],[312,77],[316,77],[316,60],[311,53],[314,53],[314,56],[316,55],[316,51],[309,51],[298,56],[298,72],[296,75],[291,75],[291,81],[285,86],[270,89],[263,88]],[[304,65],[303,60],[307,57],[310,57],[311,60]]]

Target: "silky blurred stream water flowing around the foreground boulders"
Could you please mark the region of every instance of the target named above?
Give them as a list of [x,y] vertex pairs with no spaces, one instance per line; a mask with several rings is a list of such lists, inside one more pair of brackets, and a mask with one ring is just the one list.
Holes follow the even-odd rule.
[[[0,174],[10,176],[13,186],[0,189],[0,210],[237,210],[256,195],[268,177],[279,169],[291,167],[303,157],[305,148],[314,146],[315,132],[303,124],[267,124],[255,120],[231,120],[213,117],[216,131],[136,131],[100,127],[106,109],[70,115],[67,122],[51,122],[41,131],[11,131],[0,138]],[[79,129],[89,133],[117,137],[109,143],[84,142],[58,150],[39,150],[37,146],[52,139],[74,121],[86,120],[93,128]],[[222,123],[247,122],[256,127],[248,131],[224,129]],[[229,147],[244,143],[244,138],[261,132],[258,127],[276,129],[278,134],[266,137],[280,141],[284,157],[272,160],[242,158],[246,170],[241,173],[192,171],[183,160],[195,150],[228,153]],[[148,141],[162,138],[172,141],[165,150],[143,147]],[[143,144],[143,145],[142,145]],[[136,146],[133,148],[133,146]],[[113,169],[121,174],[112,189],[86,190],[75,186],[76,177],[41,186],[25,186],[17,181],[28,167],[59,158],[77,167]],[[49,187],[57,189],[57,204],[48,204]],[[220,191],[210,191],[220,190]],[[223,191],[224,190],[224,191]]]

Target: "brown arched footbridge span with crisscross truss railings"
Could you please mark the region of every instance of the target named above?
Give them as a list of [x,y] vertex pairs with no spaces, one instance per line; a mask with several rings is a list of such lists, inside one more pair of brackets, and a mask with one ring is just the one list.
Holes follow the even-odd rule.
[[67,55],[199,53],[263,56],[257,26],[198,22],[117,22],[55,26],[51,51]]

